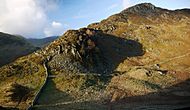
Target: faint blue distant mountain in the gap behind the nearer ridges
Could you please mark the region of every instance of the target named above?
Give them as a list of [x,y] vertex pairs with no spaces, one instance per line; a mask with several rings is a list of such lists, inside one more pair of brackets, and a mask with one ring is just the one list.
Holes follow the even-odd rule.
[[46,38],[42,38],[42,39],[30,38],[30,39],[27,39],[27,41],[36,47],[44,47],[44,46],[47,46],[49,43],[51,43],[52,41],[54,41],[57,38],[58,38],[58,36],[51,36],[51,37],[46,37]]

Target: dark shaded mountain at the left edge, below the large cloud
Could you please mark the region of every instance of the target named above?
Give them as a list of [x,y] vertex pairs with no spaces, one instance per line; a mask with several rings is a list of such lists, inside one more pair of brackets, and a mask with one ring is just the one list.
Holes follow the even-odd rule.
[[10,63],[18,57],[30,54],[36,49],[21,36],[0,32],[0,66]]

